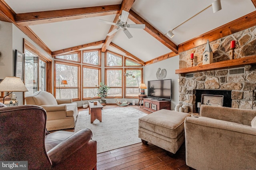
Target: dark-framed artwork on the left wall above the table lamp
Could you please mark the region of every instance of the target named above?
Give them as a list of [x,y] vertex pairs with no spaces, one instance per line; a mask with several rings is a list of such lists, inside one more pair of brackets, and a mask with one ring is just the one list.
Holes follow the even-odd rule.
[[15,49],[14,76],[20,77],[24,81],[25,54]]

